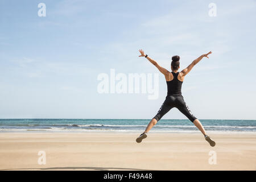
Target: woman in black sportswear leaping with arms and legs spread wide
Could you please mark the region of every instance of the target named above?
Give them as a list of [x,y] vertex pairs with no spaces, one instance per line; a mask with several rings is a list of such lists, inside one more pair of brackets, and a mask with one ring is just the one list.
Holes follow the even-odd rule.
[[181,85],[184,81],[184,77],[191,71],[191,69],[199,63],[203,57],[208,57],[212,51],[208,52],[205,55],[199,56],[196,60],[194,60],[189,66],[183,71],[178,72],[178,69],[180,68],[180,57],[179,56],[173,56],[172,57],[172,62],[171,62],[171,70],[172,72],[167,71],[167,69],[164,69],[161,67],[158,63],[156,63],[155,60],[151,59],[148,55],[144,54],[144,51],[142,49],[139,50],[141,55],[139,57],[146,57],[150,63],[154,64],[156,68],[159,69],[161,73],[163,73],[164,77],[166,77],[166,82],[167,82],[167,96],[166,100],[164,101],[163,105],[160,107],[158,113],[155,115],[155,117],[148,123],[148,126],[146,130],[139,135],[139,137],[136,139],[136,142],[141,143],[142,139],[147,137],[148,131],[163,117],[164,114],[168,113],[173,107],[176,107],[183,113],[191,122],[194,123],[194,125],[201,131],[201,133],[204,134],[205,140],[209,142],[210,146],[214,147],[215,142],[205,133],[204,127],[191,113],[191,110],[189,110],[187,104],[184,101],[184,98],[181,94]]

